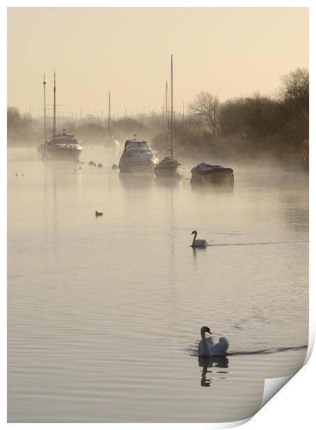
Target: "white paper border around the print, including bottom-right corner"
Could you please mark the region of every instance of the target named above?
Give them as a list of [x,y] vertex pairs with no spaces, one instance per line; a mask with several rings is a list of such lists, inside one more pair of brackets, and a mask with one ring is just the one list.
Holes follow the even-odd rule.
[[[1,57],[3,58],[3,62],[1,63],[2,67],[0,68],[1,74],[1,137],[2,137],[2,145],[1,145],[1,198],[6,201],[6,136],[4,135],[3,130],[6,130],[6,8],[7,7],[61,7],[61,6],[69,6],[69,7],[148,7],[148,6],[156,6],[156,7],[309,7],[310,8],[310,46],[313,45],[313,40],[315,40],[315,17],[314,17],[314,7],[311,1],[6,1],[4,4],[1,4],[0,7],[0,32],[1,32]],[[315,50],[315,48],[314,48]],[[314,102],[315,102],[315,91],[313,85],[314,79],[314,55],[313,49],[310,49],[310,76],[312,76],[312,80],[310,82],[310,112],[311,118],[315,117],[314,110]],[[310,141],[315,145],[315,130],[314,130],[314,122],[310,121]],[[311,169],[310,169],[310,186],[311,186],[311,195],[314,190],[315,185],[315,174],[313,173],[313,160],[315,150],[313,149],[313,144],[310,147],[310,160],[311,160]],[[6,285],[6,209],[3,208],[1,211],[1,223],[0,223],[0,234],[4,239],[3,246],[1,247],[1,330],[3,336],[1,339],[3,340],[3,348],[1,351],[1,370],[2,370],[2,390],[1,390],[1,422],[6,424],[6,289],[4,286]],[[315,217],[315,205],[310,199],[310,218],[314,219]],[[313,250],[313,243],[315,238],[315,232],[313,223],[310,225],[310,260],[315,255]],[[308,343],[308,355],[310,355],[311,350],[313,349],[313,343],[315,338],[315,296],[313,293],[314,287],[314,279],[315,279],[315,270],[313,270],[313,266],[310,264],[310,339]],[[315,413],[314,413],[314,404],[312,404],[313,399],[315,397],[315,390],[313,386],[313,381],[315,381],[315,354],[310,356],[310,360],[308,363],[301,369],[297,375],[295,375],[288,384],[285,385],[286,388],[281,390],[281,393],[276,395],[275,399],[269,401],[269,406],[261,409],[252,420],[245,424],[247,429],[267,429],[267,426],[272,428],[282,427],[285,429],[297,429],[297,427],[304,427],[304,429],[311,428],[311,425],[315,424]],[[313,402],[314,403],[314,402]],[[246,420],[247,421],[247,420]],[[54,429],[55,427],[58,429],[63,429],[63,427],[69,428],[72,426],[76,426],[80,428],[90,428],[91,426],[102,426],[102,428],[106,429],[149,429],[149,428],[164,428],[164,429],[219,429],[219,428],[228,428],[235,425],[243,424],[242,422],[230,422],[230,423],[221,423],[221,424],[6,424],[10,427],[17,427],[23,425],[23,427],[30,427],[33,429],[34,427],[40,426],[40,429],[49,428]]]

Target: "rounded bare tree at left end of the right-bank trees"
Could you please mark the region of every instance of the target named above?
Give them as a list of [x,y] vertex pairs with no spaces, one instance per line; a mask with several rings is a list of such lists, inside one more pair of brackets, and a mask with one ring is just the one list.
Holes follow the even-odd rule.
[[192,114],[201,117],[201,121],[210,128],[211,132],[221,131],[219,127],[220,103],[217,96],[207,91],[201,91],[190,103],[189,109]]

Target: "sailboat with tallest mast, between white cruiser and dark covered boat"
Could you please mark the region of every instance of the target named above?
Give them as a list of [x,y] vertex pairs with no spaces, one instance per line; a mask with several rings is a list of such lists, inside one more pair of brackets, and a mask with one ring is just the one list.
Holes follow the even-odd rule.
[[[167,145],[165,158],[155,166],[154,172],[157,178],[181,178],[181,162],[174,157],[174,96],[173,96],[173,65],[171,55],[171,145],[168,148],[168,113],[167,113],[167,84],[166,84],[166,119],[167,119]],[[170,155],[168,153],[170,152]]]

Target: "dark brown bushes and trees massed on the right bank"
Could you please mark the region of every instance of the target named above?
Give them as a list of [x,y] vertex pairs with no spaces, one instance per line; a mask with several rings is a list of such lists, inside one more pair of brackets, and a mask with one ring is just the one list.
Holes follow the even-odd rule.
[[[293,166],[308,166],[307,69],[283,76],[274,97],[256,93],[220,103],[214,94],[200,92],[190,103],[190,113],[203,126],[200,132],[210,149],[238,149],[242,157],[269,153]],[[231,148],[224,148],[227,145]]]

